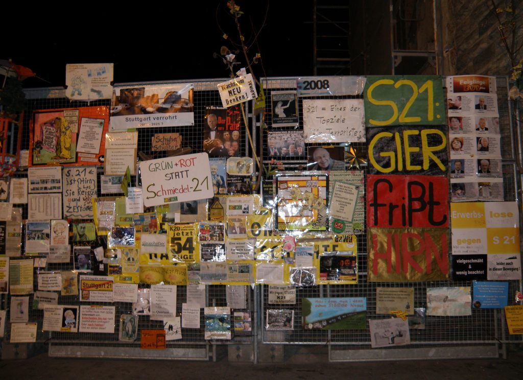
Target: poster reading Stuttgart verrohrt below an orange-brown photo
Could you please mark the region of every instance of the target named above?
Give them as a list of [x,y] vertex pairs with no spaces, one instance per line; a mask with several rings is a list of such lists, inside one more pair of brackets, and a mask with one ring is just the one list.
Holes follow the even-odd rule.
[[115,87],[109,130],[194,125],[194,85]]

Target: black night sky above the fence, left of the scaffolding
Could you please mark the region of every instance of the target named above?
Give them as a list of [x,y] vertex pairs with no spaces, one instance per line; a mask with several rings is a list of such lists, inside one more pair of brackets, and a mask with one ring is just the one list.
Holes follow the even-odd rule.
[[[260,52],[257,76],[305,76],[313,74],[312,0],[300,2],[238,1],[245,11],[242,31],[248,39],[251,25],[259,26],[269,3],[266,25],[250,55]],[[225,78],[228,70],[213,58],[220,46],[228,45],[217,24],[236,37],[236,29],[226,1],[192,2],[173,9],[155,7],[155,11],[137,11],[132,17],[82,11],[81,16],[64,22],[42,22],[38,12],[28,16],[31,37],[12,33],[4,39],[0,58],[28,67],[37,76],[24,81],[24,87],[63,86],[67,63],[115,64],[115,82],[161,81],[176,79]],[[96,9],[99,11],[99,9]],[[245,22],[247,21],[247,22]],[[307,23],[308,21],[308,23]],[[27,35],[26,35],[27,36]],[[237,38],[236,38],[237,39]],[[243,67],[242,54],[238,61]]]

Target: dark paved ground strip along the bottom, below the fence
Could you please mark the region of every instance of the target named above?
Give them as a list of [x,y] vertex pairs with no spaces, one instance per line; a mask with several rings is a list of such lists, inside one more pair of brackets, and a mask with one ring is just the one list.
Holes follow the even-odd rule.
[[58,359],[47,353],[25,360],[0,361],[0,379],[246,379],[265,380],[519,380],[523,376],[523,353],[511,352],[508,359],[426,360],[367,363],[231,363],[226,355],[217,362]]

